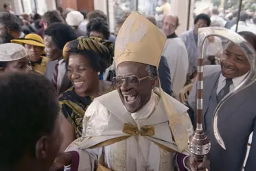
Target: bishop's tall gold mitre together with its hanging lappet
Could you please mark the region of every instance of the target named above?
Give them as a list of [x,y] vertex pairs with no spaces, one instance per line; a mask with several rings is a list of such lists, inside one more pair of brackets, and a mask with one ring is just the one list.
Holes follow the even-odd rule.
[[[139,62],[159,67],[166,37],[154,24],[138,12],[132,12],[121,26],[115,41],[115,66],[122,62]],[[160,86],[160,95],[178,150],[187,148],[188,135],[170,97]],[[172,136],[170,135],[170,136]]]

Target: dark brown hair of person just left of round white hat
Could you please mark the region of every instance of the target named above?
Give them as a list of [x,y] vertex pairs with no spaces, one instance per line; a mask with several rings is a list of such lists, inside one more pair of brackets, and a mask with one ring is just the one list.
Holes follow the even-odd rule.
[[60,12],[56,10],[45,12],[45,14],[43,14],[43,21],[47,23],[47,27],[53,23],[65,23]]

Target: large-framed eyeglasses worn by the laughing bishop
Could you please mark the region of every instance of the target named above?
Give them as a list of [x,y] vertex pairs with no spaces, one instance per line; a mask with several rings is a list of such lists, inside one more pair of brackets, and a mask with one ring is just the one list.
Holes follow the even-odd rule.
[[124,81],[126,81],[128,83],[129,86],[131,86],[132,88],[137,88],[139,87],[139,82],[142,81],[143,79],[148,79],[149,76],[147,77],[142,77],[142,78],[138,78],[135,75],[130,75],[127,77],[113,77],[112,79],[112,83],[113,86],[115,86],[116,88],[121,87],[121,85],[124,83]]

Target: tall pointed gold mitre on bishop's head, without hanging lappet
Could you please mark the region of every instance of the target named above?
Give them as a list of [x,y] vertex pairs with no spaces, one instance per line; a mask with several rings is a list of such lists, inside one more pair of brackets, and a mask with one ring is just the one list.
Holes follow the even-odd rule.
[[166,37],[138,12],[132,12],[119,29],[115,41],[115,66],[139,62],[158,68]]

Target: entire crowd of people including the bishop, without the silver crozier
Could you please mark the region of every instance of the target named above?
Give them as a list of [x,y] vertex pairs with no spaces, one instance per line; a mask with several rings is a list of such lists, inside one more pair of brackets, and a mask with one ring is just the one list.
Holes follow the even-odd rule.
[[226,21],[214,8],[178,36],[178,16],[170,12],[162,30],[154,16],[128,12],[110,33],[100,10],[17,16],[10,3],[3,7],[0,170],[256,170],[256,135],[246,159],[256,133],[255,83],[220,110],[226,150],[214,140],[214,110],[251,70],[241,47],[217,36],[207,38],[204,59],[211,151],[198,162],[187,148],[196,126],[198,29],[238,28],[256,51],[252,15],[241,12],[237,22],[233,12]]

